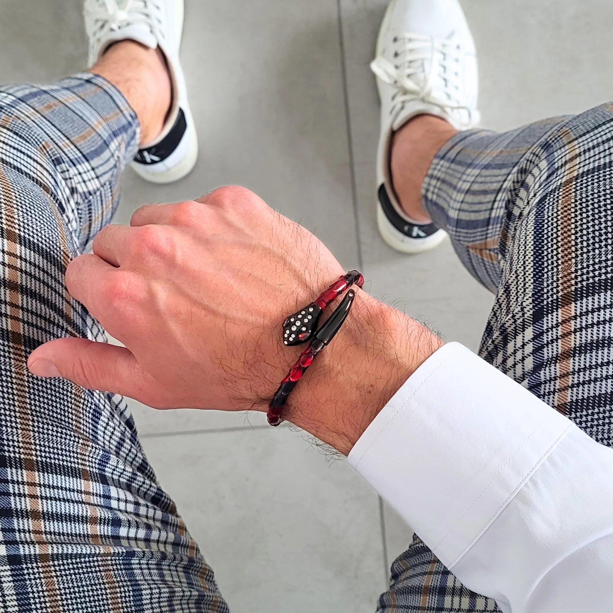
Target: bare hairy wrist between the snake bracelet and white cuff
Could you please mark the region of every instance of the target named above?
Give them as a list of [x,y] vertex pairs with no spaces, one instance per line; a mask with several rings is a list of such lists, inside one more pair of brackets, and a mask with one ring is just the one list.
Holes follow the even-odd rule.
[[344,326],[292,393],[286,417],[348,454],[440,338],[358,290]]

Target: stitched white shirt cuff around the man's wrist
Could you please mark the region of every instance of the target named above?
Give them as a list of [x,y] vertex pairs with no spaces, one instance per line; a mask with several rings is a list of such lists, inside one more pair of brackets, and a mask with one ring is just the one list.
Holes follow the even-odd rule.
[[451,569],[571,427],[449,343],[398,390],[348,460]]

